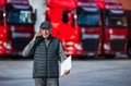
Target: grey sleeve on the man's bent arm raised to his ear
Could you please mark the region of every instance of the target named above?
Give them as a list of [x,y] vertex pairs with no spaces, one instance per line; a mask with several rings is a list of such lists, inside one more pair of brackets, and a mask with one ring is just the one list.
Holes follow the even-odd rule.
[[29,44],[23,50],[23,57],[29,57],[34,53],[34,41],[29,41]]

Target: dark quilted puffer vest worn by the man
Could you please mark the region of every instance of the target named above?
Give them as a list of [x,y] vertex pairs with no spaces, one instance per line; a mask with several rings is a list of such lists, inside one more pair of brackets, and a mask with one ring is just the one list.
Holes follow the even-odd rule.
[[59,77],[59,40],[55,37],[49,37],[48,48],[43,37],[38,37],[34,46],[34,78]]

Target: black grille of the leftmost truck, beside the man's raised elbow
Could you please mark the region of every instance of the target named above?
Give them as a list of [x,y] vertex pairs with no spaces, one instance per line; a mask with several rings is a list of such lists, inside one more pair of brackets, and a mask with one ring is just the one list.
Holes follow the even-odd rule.
[[12,39],[12,46],[13,46],[13,49],[15,50],[23,50],[24,47],[29,42],[29,38],[13,38]]

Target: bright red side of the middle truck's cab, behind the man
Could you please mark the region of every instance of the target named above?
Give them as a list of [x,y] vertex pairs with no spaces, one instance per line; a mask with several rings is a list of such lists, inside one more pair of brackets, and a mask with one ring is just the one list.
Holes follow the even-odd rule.
[[75,0],[47,0],[46,20],[52,24],[52,35],[58,37],[66,54],[83,56],[81,30],[76,25]]

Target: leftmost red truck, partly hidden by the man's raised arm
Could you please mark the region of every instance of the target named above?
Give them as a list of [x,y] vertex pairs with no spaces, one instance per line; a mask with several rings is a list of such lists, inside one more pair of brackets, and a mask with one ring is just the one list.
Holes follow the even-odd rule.
[[35,33],[34,23],[28,0],[0,0],[0,56],[21,54]]

